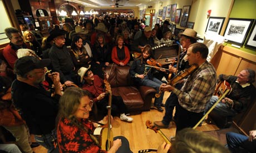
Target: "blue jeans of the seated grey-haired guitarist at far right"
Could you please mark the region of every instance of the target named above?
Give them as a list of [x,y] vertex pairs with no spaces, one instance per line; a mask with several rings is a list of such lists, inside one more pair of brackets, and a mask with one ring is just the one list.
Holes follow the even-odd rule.
[[[210,103],[208,103],[208,105],[206,106],[205,113],[211,108],[211,106],[213,106],[216,103],[216,101],[218,101],[218,96],[212,96],[210,99]],[[237,115],[237,112],[234,109],[230,109],[229,106],[227,106],[227,104],[221,103],[221,101],[215,106],[213,111],[216,114],[220,114],[221,116],[225,117],[233,117]]]

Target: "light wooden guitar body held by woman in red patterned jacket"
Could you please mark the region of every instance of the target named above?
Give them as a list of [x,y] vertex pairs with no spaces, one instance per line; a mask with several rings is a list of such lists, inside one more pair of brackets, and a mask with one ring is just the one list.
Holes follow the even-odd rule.
[[[110,137],[108,137],[108,132],[110,132]],[[112,130],[105,127],[97,127],[93,131],[93,135],[100,137],[99,142],[102,150],[110,150],[110,147],[113,145],[113,132]]]

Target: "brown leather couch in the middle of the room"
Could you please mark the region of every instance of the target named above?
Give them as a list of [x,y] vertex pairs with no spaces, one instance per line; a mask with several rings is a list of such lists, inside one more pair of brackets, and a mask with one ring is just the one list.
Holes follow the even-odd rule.
[[112,95],[122,97],[130,114],[149,111],[156,90],[149,86],[136,86],[130,77],[129,69],[129,66],[121,67],[118,65],[106,68],[106,73],[109,74],[108,82],[111,85]]

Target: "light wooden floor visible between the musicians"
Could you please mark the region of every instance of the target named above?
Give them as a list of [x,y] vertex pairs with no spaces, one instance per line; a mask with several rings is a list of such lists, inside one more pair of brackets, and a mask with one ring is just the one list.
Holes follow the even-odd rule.
[[[164,103],[170,93],[165,92]],[[154,121],[161,121],[164,116],[164,112],[160,113],[157,110],[150,110],[142,112],[139,115],[132,115],[134,119],[132,123],[126,123],[119,118],[114,118],[112,121],[112,131],[114,136],[125,136],[130,142],[130,148],[132,152],[138,152],[141,149],[157,149],[157,147],[164,141],[160,134],[155,133],[151,129],[147,129],[146,120],[150,120],[152,124]],[[218,127],[212,124],[204,123],[201,127],[197,127],[196,130],[210,131],[216,130]],[[176,126],[171,123],[169,129],[161,129],[161,131],[167,136],[175,136]],[[38,146],[33,149],[37,153],[46,153],[47,150],[43,146]]]

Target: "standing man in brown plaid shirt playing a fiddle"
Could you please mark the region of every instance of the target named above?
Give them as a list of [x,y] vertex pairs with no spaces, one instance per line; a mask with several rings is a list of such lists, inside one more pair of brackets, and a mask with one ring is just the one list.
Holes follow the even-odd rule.
[[160,90],[169,90],[178,96],[176,132],[196,125],[204,116],[206,104],[213,95],[217,78],[213,65],[206,60],[208,52],[208,48],[203,43],[191,44],[186,53],[187,59],[189,65],[198,68],[184,80],[180,90],[171,85],[160,86]]

